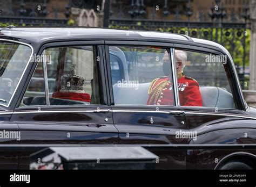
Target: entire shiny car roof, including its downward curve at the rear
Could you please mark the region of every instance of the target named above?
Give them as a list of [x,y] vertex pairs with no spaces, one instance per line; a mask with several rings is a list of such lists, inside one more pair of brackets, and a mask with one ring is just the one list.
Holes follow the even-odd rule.
[[184,34],[133,31],[98,27],[4,27],[0,28],[0,38],[16,39],[28,44],[38,45],[53,41],[71,40],[136,40],[152,42],[185,42],[186,44],[201,44],[221,51],[226,49],[212,41],[190,38]]

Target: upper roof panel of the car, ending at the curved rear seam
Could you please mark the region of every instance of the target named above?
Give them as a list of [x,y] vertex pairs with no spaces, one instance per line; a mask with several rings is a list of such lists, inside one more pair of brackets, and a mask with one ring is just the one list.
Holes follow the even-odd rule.
[[1,33],[15,38],[23,38],[36,41],[45,41],[51,39],[66,38],[166,38],[177,40],[190,40],[186,35],[148,32],[148,31],[129,31],[117,30],[111,28],[93,28],[93,27],[11,27],[2,28]]

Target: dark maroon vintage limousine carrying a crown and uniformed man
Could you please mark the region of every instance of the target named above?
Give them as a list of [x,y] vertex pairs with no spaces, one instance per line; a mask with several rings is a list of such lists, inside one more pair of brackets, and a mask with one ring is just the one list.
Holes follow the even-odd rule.
[[[0,32],[0,57],[1,145],[177,145],[187,147],[152,149],[157,169],[256,169],[256,147],[246,149],[256,145],[256,110],[230,53],[215,42],[9,27]],[[0,168],[29,169],[31,153],[0,148]]]

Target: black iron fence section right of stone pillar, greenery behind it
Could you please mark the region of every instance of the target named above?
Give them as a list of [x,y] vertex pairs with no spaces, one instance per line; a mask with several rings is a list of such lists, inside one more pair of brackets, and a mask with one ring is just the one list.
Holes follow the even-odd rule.
[[[126,4],[125,7],[124,4],[111,4],[110,28],[180,33],[193,38],[218,42],[231,53],[237,67],[242,89],[246,87],[245,82],[249,79],[250,47],[248,46],[250,46],[251,34],[248,1],[244,1],[245,4],[239,8],[239,12],[235,12],[235,9],[233,9],[229,14],[225,11],[225,5],[221,4],[225,3],[224,1],[212,1],[212,6],[208,7],[207,10],[197,12],[196,20],[195,18],[191,20],[194,12],[190,0],[180,2],[186,5],[183,10],[179,10],[179,6],[175,6],[167,0],[159,0],[152,3],[152,5],[146,4],[147,1],[143,0],[131,0],[130,2],[130,6]],[[159,7],[161,4],[163,7]],[[112,9],[118,13],[113,14]],[[161,19],[156,19],[157,10],[161,11]],[[183,15],[180,15],[180,12]],[[172,13],[174,20],[168,19]],[[186,16],[185,20],[184,15]],[[183,19],[179,19],[182,16]],[[151,17],[152,19],[145,19],[145,17]]]

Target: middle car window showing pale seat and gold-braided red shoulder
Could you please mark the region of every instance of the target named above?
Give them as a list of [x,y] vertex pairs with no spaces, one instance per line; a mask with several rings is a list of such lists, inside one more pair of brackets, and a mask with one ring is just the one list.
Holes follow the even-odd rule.
[[115,105],[174,105],[169,49],[112,46],[110,54]]

